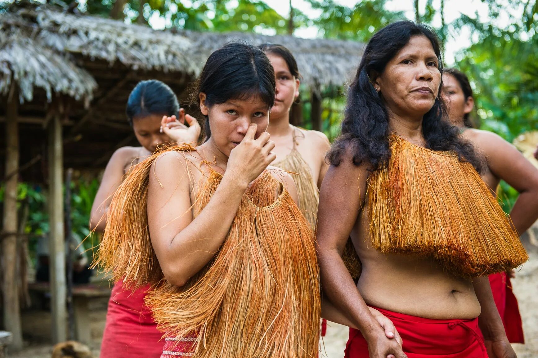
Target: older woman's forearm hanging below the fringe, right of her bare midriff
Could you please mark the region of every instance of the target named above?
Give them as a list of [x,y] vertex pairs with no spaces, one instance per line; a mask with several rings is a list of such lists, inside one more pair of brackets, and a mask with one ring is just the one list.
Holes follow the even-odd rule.
[[482,307],[478,325],[484,335],[487,353],[491,358],[516,358],[514,350],[506,338],[504,325],[493,300],[490,281],[487,276],[473,278],[476,297]]

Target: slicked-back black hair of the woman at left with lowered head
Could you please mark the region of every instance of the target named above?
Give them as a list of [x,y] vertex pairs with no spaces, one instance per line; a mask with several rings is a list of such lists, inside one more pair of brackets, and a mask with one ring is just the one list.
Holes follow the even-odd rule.
[[179,102],[171,88],[157,80],[140,81],[131,91],[125,109],[132,125],[134,118],[160,114],[179,118]]

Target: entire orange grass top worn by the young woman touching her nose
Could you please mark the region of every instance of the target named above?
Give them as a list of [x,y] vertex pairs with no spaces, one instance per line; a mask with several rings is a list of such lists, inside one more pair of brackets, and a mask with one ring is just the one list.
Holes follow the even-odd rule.
[[[162,278],[147,231],[148,175],[158,155],[138,164],[112,199],[99,253],[105,270],[131,287],[153,283],[146,303],[159,330],[172,338],[197,335],[195,358],[316,357],[321,303],[313,232],[283,185],[267,171],[254,181],[220,251],[178,288]],[[208,170],[194,216],[222,180]]]

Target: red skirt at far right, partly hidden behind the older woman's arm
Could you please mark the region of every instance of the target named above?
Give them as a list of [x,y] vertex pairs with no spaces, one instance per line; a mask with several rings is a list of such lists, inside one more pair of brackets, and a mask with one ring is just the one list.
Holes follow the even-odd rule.
[[510,343],[525,343],[523,325],[519,313],[518,299],[512,291],[510,277],[501,272],[489,276],[493,300],[504,324],[506,336]]

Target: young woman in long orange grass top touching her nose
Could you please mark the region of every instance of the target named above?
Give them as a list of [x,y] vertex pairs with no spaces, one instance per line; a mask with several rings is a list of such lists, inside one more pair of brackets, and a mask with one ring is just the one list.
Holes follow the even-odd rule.
[[267,56],[209,56],[196,99],[207,140],[138,164],[110,206],[100,260],[146,297],[163,358],[312,357],[320,319],[312,230],[286,172],[267,167],[275,99]]

